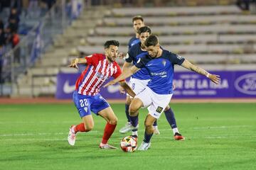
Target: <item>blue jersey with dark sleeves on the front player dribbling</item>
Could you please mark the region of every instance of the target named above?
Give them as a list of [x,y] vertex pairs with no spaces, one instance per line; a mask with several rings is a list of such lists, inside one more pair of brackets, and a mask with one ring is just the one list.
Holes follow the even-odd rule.
[[174,64],[181,65],[184,58],[172,52],[163,50],[161,57],[152,58],[149,55],[140,57],[138,68],[146,68],[151,76],[147,86],[156,94],[172,94],[172,83],[174,79]]

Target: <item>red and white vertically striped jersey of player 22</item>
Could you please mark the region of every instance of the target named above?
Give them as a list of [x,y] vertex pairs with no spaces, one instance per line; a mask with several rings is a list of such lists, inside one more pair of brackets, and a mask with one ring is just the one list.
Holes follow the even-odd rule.
[[117,62],[108,63],[105,55],[93,54],[85,59],[87,67],[75,83],[78,94],[95,96],[108,78],[117,78],[122,74]]

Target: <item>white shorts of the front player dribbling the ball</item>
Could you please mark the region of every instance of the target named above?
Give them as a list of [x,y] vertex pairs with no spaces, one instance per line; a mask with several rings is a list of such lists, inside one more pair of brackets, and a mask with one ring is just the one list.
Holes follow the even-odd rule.
[[160,118],[166,106],[171,101],[173,94],[156,94],[148,86],[137,94],[134,98],[139,98],[143,103],[143,108],[147,108],[149,114],[156,119]]

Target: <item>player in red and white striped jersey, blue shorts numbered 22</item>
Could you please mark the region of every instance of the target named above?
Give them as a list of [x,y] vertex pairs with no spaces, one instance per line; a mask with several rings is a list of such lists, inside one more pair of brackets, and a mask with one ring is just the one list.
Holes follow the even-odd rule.
[[[105,126],[100,148],[102,149],[117,149],[107,143],[114,129],[117,126],[117,116],[114,115],[110,104],[100,94],[100,87],[105,81],[114,77],[117,78],[121,73],[121,69],[117,62],[119,42],[109,40],[105,42],[105,55],[93,54],[85,58],[75,58],[71,61],[69,67],[78,69],[78,64],[86,64],[87,67],[82,72],[75,83],[75,91],[73,93],[73,101],[78,109],[82,123],[71,125],[68,134],[68,143],[75,145],[77,132],[89,132],[94,127],[94,121],[91,111],[96,115],[102,116],[107,121]],[[129,95],[135,96],[128,84],[122,80],[119,81]]]

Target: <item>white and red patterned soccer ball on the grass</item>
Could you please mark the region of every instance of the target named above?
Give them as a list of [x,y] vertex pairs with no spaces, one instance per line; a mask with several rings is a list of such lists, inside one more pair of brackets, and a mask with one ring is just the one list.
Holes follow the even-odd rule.
[[124,152],[134,152],[137,149],[137,138],[132,136],[122,138],[120,147]]

